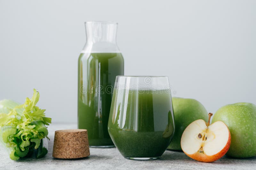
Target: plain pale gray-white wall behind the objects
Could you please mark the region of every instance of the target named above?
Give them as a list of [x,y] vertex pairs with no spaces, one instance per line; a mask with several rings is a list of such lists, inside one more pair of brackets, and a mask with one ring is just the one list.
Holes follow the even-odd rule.
[[53,122],[77,121],[84,21],[117,21],[126,75],[167,75],[209,112],[256,103],[256,1],[0,0],[0,99],[33,88]]

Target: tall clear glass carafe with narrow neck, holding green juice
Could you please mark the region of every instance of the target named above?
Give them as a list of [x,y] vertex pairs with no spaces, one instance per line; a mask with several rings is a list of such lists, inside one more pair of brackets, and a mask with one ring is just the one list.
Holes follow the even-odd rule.
[[124,59],[116,44],[117,23],[85,22],[86,44],[78,59],[78,128],[87,129],[91,147],[114,146],[108,117]]

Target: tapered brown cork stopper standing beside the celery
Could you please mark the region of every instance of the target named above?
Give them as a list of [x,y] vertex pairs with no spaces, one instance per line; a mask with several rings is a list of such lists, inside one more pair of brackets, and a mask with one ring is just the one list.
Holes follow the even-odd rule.
[[60,159],[84,158],[90,155],[85,129],[55,131],[52,156]]

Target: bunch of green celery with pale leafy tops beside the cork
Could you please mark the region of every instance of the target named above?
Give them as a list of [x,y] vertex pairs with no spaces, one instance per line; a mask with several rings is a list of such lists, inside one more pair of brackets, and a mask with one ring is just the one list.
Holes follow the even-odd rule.
[[36,106],[39,96],[34,89],[32,98],[27,97],[24,104],[6,99],[0,101],[0,141],[13,160],[33,152],[37,158],[47,153],[45,125],[51,123],[51,118],[45,117],[45,110]]

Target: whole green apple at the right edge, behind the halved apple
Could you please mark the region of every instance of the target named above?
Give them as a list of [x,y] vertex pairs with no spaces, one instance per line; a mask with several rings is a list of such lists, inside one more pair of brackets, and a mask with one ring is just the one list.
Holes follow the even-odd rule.
[[256,105],[235,103],[221,107],[212,123],[224,122],[231,134],[231,144],[226,155],[235,158],[256,156]]

